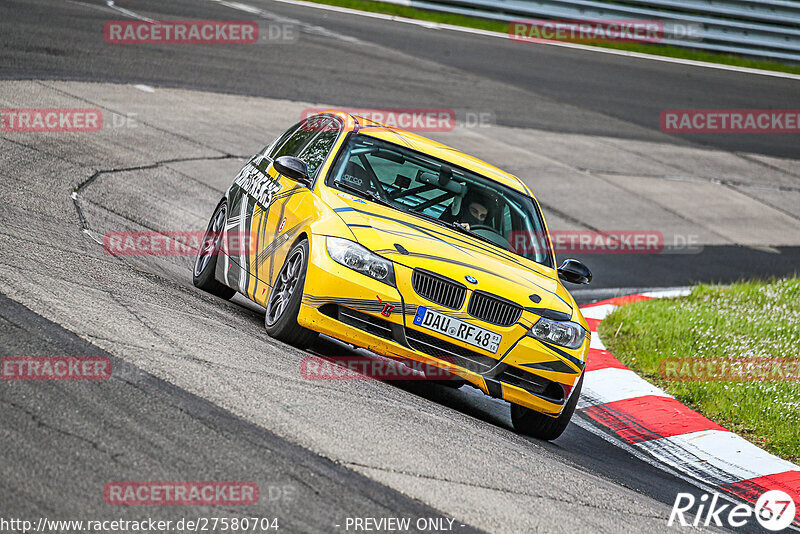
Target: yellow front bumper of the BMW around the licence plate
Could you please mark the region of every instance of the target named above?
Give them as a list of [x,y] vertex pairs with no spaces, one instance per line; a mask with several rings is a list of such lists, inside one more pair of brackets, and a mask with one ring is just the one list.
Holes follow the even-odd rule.
[[[395,264],[401,294],[395,287],[336,263],[328,256],[324,238],[314,237],[298,314],[300,325],[382,356],[444,369],[492,397],[554,417],[561,413],[582,365],[580,359],[565,358],[526,336],[530,318],[501,329],[504,339],[496,354],[481,353],[413,325],[417,305],[403,298],[418,300],[413,289],[403,283],[410,279],[410,269]],[[458,316],[458,312],[449,313]],[[498,331],[479,320],[471,322]],[[577,352],[585,355],[588,344],[587,337]]]

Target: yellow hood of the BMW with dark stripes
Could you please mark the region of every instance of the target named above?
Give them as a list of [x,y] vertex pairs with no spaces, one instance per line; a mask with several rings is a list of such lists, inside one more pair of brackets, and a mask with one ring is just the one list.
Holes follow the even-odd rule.
[[[330,205],[366,248],[409,268],[447,276],[526,308],[572,315],[574,300],[556,270],[468,234],[340,191]],[[474,279],[477,283],[468,281]],[[537,302],[538,301],[538,302]]]

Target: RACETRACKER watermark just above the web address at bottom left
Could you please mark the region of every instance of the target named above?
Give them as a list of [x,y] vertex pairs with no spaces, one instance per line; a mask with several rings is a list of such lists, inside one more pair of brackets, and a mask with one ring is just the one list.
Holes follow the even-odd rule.
[[248,505],[258,502],[255,482],[109,482],[103,488],[112,505]]

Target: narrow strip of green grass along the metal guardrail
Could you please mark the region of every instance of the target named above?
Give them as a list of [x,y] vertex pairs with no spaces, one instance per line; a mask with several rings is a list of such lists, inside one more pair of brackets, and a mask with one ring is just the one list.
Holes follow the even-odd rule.
[[[347,7],[351,9],[358,9],[360,11],[369,11],[372,13],[383,13],[386,15],[395,15],[398,17],[406,17],[410,19],[438,22],[441,24],[452,24],[454,26],[465,26],[467,28],[489,30],[508,35],[508,23],[500,22],[497,20],[467,17],[464,15],[443,13],[439,11],[428,11],[425,9],[417,9],[413,7],[400,6],[396,4],[387,4],[384,2],[373,2],[371,0],[309,0],[309,1],[317,4],[327,4],[332,6]],[[519,46],[527,45],[527,43],[518,43],[518,44]],[[752,69],[774,70],[779,72],[800,74],[800,65],[781,63],[778,61],[750,59],[733,54],[718,54],[713,52],[703,52],[700,50],[692,50],[688,48],[681,48],[678,46],[647,44],[647,43],[603,43],[603,44],[595,43],[590,46],[613,48],[616,50],[627,50],[629,52],[642,52],[645,54],[655,54],[659,56],[691,59],[695,61],[707,61],[709,63],[720,63],[723,65],[733,65],[737,67],[749,67]]]

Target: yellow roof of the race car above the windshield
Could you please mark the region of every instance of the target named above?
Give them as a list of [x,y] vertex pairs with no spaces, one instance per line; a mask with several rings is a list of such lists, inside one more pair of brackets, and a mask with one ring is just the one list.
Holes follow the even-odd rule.
[[428,154],[437,159],[452,163],[455,166],[463,167],[480,174],[481,176],[494,180],[525,195],[533,196],[528,187],[513,174],[498,169],[494,165],[486,163],[474,156],[470,156],[469,154],[465,154],[453,147],[428,139],[427,137],[422,137],[408,130],[403,130],[402,128],[388,126],[360,115],[352,115],[346,111],[330,110],[325,113],[337,115],[345,119],[345,129],[348,131],[357,131],[360,134],[407,146],[412,150]]

